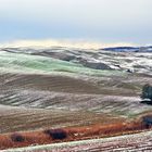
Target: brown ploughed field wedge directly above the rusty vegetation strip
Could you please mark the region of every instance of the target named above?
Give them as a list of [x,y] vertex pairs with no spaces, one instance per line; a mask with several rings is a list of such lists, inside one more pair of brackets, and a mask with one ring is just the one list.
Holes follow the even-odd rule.
[[[109,114],[96,114],[85,111],[38,110],[0,106],[0,132],[35,130],[48,127],[83,126],[96,123],[109,124],[123,118]],[[109,119],[109,121],[107,121]]]

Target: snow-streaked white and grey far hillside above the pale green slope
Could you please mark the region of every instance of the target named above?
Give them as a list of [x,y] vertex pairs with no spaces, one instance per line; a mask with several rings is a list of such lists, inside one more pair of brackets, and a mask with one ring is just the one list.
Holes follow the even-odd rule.
[[[62,61],[63,65],[65,65],[65,62],[66,65],[67,63],[68,64],[71,63],[73,67],[75,66],[75,69],[78,68],[76,66],[83,65],[85,67],[91,67],[94,69],[112,68],[112,69],[129,71],[129,72],[152,75],[152,62],[151,62],[152,53],[151,51],[149,51],[149,48],[147,50],[145,51],[139,50],[138,52],[132,52],[131,50],[127,50],[127,51],[125,50],[119,52],[119,51],[105,51],[105,50],[80,50],[80,49],[61,48],[61,47],[48,48],[48,49],[5,48],[5,49],[1,49],[1,53],[2,53],[1,55],[3,55],[3,58],[4,56],[8,58],[9,53],[20,54],[21,59],[24,58],[23,63],[26,62],[25,61],[26,58],[28,59],[28,61],[33,59],[35,64],[38,64],[38,62],[40,63],[40,60],[46,60],[47,63],[49,64],[48,58],[50,58],[50,60],[52,58],[55,60],[56,59],[60,60],[60,63]],[[3,51],[8,53],[4,54]],[[22,54],[28,54],[28,55],[22,55]],[[11,54],[12,59],[13,55],[14,54]],[[37,55],[37,58],[35,58],[35,55]],[[56,62],[59,62],[58,60]],[[20,61],[18,59],[18,62],[22,61]],[[10,60],[10,64],[11,64],[11,60]],[[27,69],[29,71],[29,68]]]

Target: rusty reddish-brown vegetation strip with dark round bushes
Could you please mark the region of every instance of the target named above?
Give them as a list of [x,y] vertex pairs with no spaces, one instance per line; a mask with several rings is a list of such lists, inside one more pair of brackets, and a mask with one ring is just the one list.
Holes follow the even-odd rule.
[[0,136],[0,149],[27,147],[30,144],[47,144],[53,142],[73,141],[96,137],[109,137],[129,134],[145,129],[142,123],[119,123],[111,125],[92,125],[84,127],[71,127],[64,129],[46,129],[21,134],[8,134]]

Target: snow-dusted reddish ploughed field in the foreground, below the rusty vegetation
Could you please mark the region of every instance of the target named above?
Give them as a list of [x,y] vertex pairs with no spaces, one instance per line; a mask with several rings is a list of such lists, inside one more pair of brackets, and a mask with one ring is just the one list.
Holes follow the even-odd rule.
[[151,152],[152,131],[103,139],[34,145],[2,152]]

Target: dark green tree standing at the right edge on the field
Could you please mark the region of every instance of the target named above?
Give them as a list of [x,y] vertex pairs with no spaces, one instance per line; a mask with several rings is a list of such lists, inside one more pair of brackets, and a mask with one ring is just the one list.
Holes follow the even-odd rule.
[[149,99],[152,101],[152,86],[151,85],[147,84],[143,86],[141,98]]

